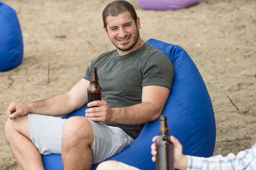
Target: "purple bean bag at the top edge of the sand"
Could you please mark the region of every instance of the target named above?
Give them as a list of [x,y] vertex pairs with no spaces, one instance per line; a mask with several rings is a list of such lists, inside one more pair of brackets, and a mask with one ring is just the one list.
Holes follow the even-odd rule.
[[139,6],[145,10],[177,10],[197,4],[200,0],[138,0]]

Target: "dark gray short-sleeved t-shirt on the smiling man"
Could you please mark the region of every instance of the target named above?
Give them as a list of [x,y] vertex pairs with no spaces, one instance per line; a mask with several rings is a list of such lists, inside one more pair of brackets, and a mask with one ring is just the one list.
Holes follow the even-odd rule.
[[[102,98],[110,107],[128,107],[141,103],[142,87],[147,85],[171,89],[174,74],[171,60],[148,43],[123,56],[119,56],[117,50],[112,50],[93,59],[83,76],[88,81],[92,67],[97,67]],[[144,126],[115,122],[106,124],[120,127],[134,139]]]

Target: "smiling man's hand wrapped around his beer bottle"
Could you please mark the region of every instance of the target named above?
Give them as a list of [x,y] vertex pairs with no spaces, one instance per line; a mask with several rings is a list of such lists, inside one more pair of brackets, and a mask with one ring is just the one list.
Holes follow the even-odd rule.
[[[98,107],[94,107],[98,106]],[[90,120],[97,122],[110,122],[112,117],[112,109],[108,106],[108,103],[102,100],[95,100],[88,103],[89,109],[85,110],[85,116]]]

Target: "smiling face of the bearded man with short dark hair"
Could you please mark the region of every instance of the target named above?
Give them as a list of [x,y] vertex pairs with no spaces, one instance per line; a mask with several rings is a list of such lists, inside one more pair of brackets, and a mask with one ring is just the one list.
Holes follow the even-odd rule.
[[[116,46],[119,55],[128,54],[136,50],[135,45],[139,38],[140,22],[137,17],[137,25],[130,13],[125,12],[116,17],[106,18],[107,28],[104,31],[110,41]],[[121,54],[120,54],[121,53]]]

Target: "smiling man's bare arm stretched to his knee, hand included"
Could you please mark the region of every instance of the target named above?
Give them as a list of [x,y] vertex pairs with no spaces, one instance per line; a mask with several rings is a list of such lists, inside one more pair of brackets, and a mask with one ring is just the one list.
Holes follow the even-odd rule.
[[87,87],[89,81],[81,79],[69,92],[59,94],[47,100],[40,100],[28,104],[11,103],[5,114],[11,118],[27,113],[36,113],[49,116],[61,116],[79,109],[87,102]]

